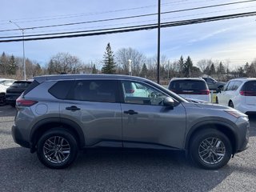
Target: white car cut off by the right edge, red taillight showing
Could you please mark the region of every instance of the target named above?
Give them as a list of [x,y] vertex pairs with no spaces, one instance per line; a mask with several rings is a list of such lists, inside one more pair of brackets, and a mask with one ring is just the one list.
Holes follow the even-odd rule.
[[242,113],[256,112],[256,78],[235,78],[219,91],[216,102]]

